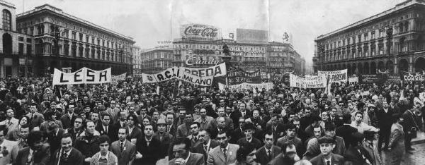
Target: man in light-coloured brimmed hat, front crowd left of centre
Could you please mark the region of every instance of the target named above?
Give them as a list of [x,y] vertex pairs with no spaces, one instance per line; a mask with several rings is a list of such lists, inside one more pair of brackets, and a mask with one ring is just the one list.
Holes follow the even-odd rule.
[[171,142],[173,142],[174,137],[170,133],[166,132],[166,123],[164,118],[159,118],[157,123],[157,129],[158,131],[154,133],[153,138],[159,140],[159,142],[161,142],[162,147],[164,148],[160,153],[160,158],[162,158],[167,155],[167,149],[169,148]]

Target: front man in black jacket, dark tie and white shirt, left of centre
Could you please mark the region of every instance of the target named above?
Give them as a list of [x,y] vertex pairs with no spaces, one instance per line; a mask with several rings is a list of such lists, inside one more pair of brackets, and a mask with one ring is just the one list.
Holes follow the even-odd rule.
[[154,127],[152,125],[146,125],[143,133],[144,135],[137,138],[137,151],[133,164],[155,164],[161,153],[161,149],[159,148],[161,142],[153,138]]

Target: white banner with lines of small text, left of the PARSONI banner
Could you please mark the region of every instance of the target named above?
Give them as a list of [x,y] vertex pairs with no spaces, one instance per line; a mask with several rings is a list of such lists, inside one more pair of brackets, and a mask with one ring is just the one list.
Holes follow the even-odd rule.
[[327,80],[324,75],[316,76],[314,78],[301,78],[297,75],[289,75],[290,87],[302,87],[302,88],[320,88],[326,87]]

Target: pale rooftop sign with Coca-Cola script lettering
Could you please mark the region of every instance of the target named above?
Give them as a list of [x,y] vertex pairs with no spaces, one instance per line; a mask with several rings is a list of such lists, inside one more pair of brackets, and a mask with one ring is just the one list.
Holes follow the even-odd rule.
[[195,40],[216,40],[221,37],[220,29],[211,25],[186,24],[181,25],[182,38]]

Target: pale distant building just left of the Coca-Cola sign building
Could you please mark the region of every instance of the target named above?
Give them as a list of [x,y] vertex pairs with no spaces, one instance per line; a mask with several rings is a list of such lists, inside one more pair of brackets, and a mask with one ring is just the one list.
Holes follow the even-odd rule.
[[159,73],[166,68],[174,66],[174,55],[172,47],[155,47],[140,53],[141,73]]

